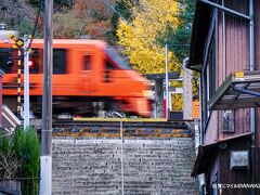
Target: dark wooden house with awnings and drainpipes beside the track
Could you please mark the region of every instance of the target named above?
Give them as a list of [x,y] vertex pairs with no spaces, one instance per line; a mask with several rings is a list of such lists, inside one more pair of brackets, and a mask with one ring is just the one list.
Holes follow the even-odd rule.
[[186,66],[200,75],[202,194],[260,194],[260,2],[198,0]]

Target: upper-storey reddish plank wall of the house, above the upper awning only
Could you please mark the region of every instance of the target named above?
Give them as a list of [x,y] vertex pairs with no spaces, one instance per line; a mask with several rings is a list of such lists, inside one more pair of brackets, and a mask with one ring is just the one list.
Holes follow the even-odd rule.
[[[248,14],[248,0],[224,0],[224,5]],[[223,29],[223,12],[219,11],[217,29],[219,86],[230,73],[249,69],[249,23],[247,20],[227,13],[224,14],[224,18],[225,30]],[[224,40],[226,54],[223,53]]]

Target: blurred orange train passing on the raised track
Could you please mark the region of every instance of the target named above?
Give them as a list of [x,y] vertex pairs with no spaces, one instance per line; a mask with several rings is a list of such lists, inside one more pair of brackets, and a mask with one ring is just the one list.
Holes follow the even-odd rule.
[[[1,48],[3,47],[11,48],[12,43],[1,43]],[[43,89],[43,40],[34,39],[31,49],[30,104],[31,110],[40,115]],[[13,52],[13,56],[17,57],[17,51]],[[17,61],[14,61],[13,66],[3,64],[1,67],[5,72],[3,102],[15,105]],[[23,74],[21,77],[23,82]],[[53,40],[52,91],[53,114],[56,115],[63,113],[92,115],[96,110],[94,105],[102,105],[100,109],[104,110],[120,110],[144,117],[151,115],[148,80],[132,70],[122,57],[100,40]],[[14,106],[12,107],[14,109]]]

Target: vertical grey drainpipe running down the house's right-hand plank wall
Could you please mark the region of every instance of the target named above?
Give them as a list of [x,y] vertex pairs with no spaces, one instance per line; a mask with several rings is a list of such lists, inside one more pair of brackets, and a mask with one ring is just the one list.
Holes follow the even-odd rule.
[[[255,70],[255,39],[253,39],[253,0],[249,1],[249,69]],[[250,131],[251,131],[251,183],[256,183],[256,109],[250,108]],[[256,194],[256,188],[251,188],[251,195]]]

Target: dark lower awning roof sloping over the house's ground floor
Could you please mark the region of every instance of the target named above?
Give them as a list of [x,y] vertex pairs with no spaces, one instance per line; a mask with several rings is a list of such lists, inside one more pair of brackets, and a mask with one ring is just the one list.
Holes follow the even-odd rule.
[[221,145],[223,145],[224,143],[229,143],[231,141],[237,141],[239,139],[249,139],[250,135],[251,133],[247,132],[239,135],[230,136],[227,139],[214,142],[212,144],[200,145],[198,147],[197,158],[193,166],[191,177],[197,177],[198,174],[207,172],[213,158],[217,156],[218,151],[221,148]]

